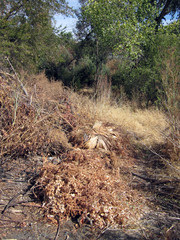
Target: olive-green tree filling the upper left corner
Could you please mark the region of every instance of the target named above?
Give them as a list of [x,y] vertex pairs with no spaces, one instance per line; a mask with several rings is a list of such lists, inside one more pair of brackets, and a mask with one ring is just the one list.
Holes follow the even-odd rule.
[[64,0],[0,1],[0,51],[16,68],[37,68],[54,48],[53,15],[69,14]]

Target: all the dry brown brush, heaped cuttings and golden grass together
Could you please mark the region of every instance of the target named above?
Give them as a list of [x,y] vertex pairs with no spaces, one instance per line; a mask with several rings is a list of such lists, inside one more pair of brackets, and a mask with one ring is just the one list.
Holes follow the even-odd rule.
[[[58,215],[101,229],[133,225],[146,201],[129,186],[136,161],[129,136],[149,148],[169,144],[165,115],[93,101],[43,74],[21,79],[28,94],[16,76],[0,73],[1,159],[45,156],[35,196],[51,221]],[[59,156],[60,163],[50,163],[50,155]]]

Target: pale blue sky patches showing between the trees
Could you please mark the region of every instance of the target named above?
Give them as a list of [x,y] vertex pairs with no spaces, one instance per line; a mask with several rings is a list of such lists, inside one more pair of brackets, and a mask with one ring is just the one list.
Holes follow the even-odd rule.
[[[68,0],[67,2],[69,3],[69,6],[74,9],[78,9],[80,7],[78,0]],[[77,18],[66,17],[63,15],[55,15],[54,18],[56,21],[56,27],[59,27],[60,25],[62,27],[66,27],[67,32],[72,32],[73,28],[76,26]]]

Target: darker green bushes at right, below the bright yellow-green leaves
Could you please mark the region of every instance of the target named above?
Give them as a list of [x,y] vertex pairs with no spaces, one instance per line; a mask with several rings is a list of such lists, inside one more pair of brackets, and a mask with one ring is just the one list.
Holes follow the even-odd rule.
[[[112,75],[112,84],[116,89],[123,86],[129,99],[133,94],[146,106],[158,106],[168,103],[177,104],[179,95],[179,22],[160,29],[151,39],[146,40],[144,56],[135,65],[128,60],[120,61],[118,71]],[[176,96],[176,97],[175,97]],[[176,108],[177,109],[177,108]]]

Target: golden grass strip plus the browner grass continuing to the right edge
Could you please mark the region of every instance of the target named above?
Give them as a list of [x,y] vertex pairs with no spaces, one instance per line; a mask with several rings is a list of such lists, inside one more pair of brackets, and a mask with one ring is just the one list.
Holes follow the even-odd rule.
[[[180,122],[172,113],[159,109],[136,109],[129,103],[121,104],[95,101],[84,96],[71,95],[84,124],[95,121],[112,123],[128,133],[132,143],[150,150],[168,167],[168,175],[180,173]],[[177,111],[177,110],[176,110]]]

